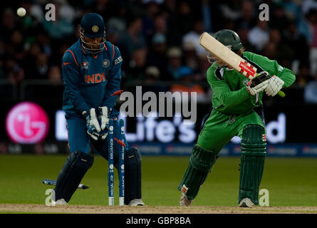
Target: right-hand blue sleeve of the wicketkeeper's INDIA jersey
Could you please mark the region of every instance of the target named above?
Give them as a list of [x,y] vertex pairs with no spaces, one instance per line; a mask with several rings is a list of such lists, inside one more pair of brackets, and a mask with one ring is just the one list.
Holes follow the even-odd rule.
[[118,95],[112,94],[120,90],[121,65],[123,63],[119,48],[113,46],[113,51],[113,63],[109,72],[105,98],[103,100],[103,106],[107,106],[108,108],[113,108],[113,106],[115,106],[115,100],[117,100]]

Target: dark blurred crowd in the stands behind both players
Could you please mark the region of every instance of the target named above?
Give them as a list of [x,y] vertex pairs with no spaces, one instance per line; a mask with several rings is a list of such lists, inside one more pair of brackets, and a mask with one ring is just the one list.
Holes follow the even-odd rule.
[[[46,4],[56,21],[45,19]],[[317,103],[317,1],[28,0],[1,8],[0,79],[61,83],[61,58],[79,37],[78,24],[89,12],[103,16],[106,39],[123,56],[123,85],[140,81],[147,90],[212,93],[206,81],[210,63],[199,46],[203,31],[237,31],[246,51],[267,56],[296,73],[293,86]],[[260,21],[260,4],[269,21]],[[16,15],[22,6],[27,14]],[[169,81],[169,83],[164,83]],[[206,86],[202,86],[202,85]]]

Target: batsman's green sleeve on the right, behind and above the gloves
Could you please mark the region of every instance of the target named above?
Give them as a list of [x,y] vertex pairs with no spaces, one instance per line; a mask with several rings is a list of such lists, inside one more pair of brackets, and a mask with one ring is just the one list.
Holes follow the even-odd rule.
[[251,52],[246,52],[244,56],[261,66],[270,76],[278,76],[281,78],[281,80],[284,81],[283,88],[291,86],[296,79],[295,74],[290,69],[280,66],[275,60]]

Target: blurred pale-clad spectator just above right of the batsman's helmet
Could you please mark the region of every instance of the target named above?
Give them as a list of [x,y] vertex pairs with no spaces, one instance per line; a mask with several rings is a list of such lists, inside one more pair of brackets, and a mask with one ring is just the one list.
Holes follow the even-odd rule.
[[261,51],[269,42],[269,27],[267,21],[256,21],[256,26],[249,31],[248,40],[256,47],[256,51]]

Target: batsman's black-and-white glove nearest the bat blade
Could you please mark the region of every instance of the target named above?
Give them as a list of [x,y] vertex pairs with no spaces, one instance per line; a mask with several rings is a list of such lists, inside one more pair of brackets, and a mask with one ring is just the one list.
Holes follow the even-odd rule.
[[256,93],[260,93],[267,88],[270,80],[271,76],[269,76],[269,73],[262,71],[259,73],[259,76],[256,76],[246,84],[246,90],[248,90],[251,95],[256,95]]

